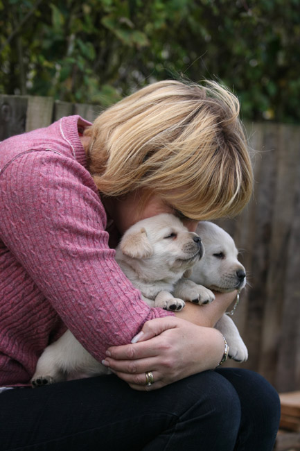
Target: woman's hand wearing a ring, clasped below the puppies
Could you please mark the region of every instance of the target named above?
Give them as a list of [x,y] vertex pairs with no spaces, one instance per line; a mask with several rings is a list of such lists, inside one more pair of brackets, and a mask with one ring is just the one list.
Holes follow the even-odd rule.
[[[201,308],[201,307],[197,307]],[[143,325],[131,343],[112,346],[103,364],[132,389],[151,390],[218,366],[224,353],[222,334],[174,316],[156,318]],[[152,371],[154,383],[146,385]]]

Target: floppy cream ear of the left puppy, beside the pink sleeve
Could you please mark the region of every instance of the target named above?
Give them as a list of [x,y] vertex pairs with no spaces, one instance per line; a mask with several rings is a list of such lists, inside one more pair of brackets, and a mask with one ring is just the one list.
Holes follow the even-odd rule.
[[144,228],[138,232],[125,234],[120,244],[123,254],[132,258],[146,258],[153,253],[153,248],[148,240]]

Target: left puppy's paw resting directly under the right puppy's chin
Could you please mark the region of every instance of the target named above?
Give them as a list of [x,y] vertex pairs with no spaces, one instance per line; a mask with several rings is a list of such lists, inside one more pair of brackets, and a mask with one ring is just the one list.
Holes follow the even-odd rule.
[[188,279],[180,279],[177,282],[174,296],[194,304],[209,304],[215,298],[213,291]]

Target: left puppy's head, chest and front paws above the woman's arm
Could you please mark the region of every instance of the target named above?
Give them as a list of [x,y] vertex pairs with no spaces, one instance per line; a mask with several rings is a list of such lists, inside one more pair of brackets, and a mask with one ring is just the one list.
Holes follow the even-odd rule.
[[167,310],[181,310],[184,300],[206,304],[214,299],[211,290],[197,284],[186,290],[184,298],[173,297],[177,282],[191,275],[203,255],[200,237],[188,232],[172,214],[158,214],[134,224],[116,248],[116,261],[145,302]]

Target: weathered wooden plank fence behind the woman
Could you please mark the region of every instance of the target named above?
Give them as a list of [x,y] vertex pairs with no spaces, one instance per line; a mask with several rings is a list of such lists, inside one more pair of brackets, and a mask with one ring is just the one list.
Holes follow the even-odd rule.
[[[68,114],[92,121],[99,112],[45,97],[0,96],[0,140]],[[249,348],[242,366],[281,392],[299,390],[300,127],[247,124],[247,131],[255,149],[254,196],[238,218],[218,221],[243,250],[249,280],[234,318]]]

